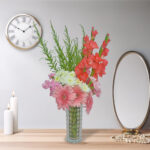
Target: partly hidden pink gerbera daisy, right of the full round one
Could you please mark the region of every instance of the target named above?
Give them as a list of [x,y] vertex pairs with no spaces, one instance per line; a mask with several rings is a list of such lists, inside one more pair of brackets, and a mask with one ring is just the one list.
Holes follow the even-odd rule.
[[79,107],[81,104],[85,104],[87,93],[83,92],[79,86],[73,87],[73,91],[76,95],[76,98],[74,99],[72,106]]

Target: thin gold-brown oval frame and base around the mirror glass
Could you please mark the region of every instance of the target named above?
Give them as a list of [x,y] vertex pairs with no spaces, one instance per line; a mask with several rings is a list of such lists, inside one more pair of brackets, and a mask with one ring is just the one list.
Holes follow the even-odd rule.
[[[147,69],[147,72],[148,72],[148,76],[149,76],[149,106],[148,106],[148,109],[147,109],[147,113],[145,115],[145,118],[143,120],[143,122],[135,129],[129,129],[129,128],[125,128],[123,126],[123,124],[121,123],[121,121],[119,120],[119,117],[117,115],[117,111],[116,111],[116,107],[115,107],[115,97],[114,97],[114,86],[115,86],[115,77],[116,77],[116,72],[117,72],[117,69],[118,69],[118,66],[120,64],[120,62],[122,61],[122,59],[129,55],[129,54],[136,54],[138,55],[138,57],[141,59],[141,61],[143,61],[143,63],[145,64],[145,67]],[[150,110],[150,71],[149,71],[149,66],[148,66],[148,63],[146,61],[146,59],[144,58],[144,56],[142,54],[140,54],[139,52],[136,52],[136,51],[127,51],[125,52],[118,60],[117,62],[117,65],[115,67],[115,72],[114,72],[114,77],[113,77],[113,87],[112,87],[112,95],[113,95],[113,107],[114,107],[114,111],[115,111],[115,115],[117,117],[117,120],[119,122],[119,124],[121,125],[121,127],[123,128],[122,132],[123,133],[127,133],[127,134],[138,134],[139,133],[139,130],[143,127],[144,123],[146,122],[146,119],[148,117],[148,114],[149,114],[149,110]]]

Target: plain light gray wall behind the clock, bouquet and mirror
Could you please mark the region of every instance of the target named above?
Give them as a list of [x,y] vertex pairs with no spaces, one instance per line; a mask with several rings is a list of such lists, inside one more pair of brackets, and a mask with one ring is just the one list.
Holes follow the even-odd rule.
[[[120,128],[113,110],[112,79],[118,58],[128,50],[141,52],[150,59],[150,3],[146,1],[42,1],[0,0],[0,128],[3,127],[3,110],[14,89],[19,100],[20,128],[65,128],[65,112],[57,110],[42,82],[50,72],[40,60],[41,49],[22,51],[13,48],[5,38],[8,20],[18,13],[29,13],[40,21],[43,37],[53,47],[50,35],[52,20],[60,37],[64,25],[72,36],[81,37],[79,24],[90,33],[91,26],[99,31],[97,41],[102,42],[110,33],[111,43],[107,75],[101,79],[102,95],[94,97],[90,115],[84,111],[84,128]],[[100,44],[99,43],[99,44]],[[150,123],[146,123],[148,128]]]

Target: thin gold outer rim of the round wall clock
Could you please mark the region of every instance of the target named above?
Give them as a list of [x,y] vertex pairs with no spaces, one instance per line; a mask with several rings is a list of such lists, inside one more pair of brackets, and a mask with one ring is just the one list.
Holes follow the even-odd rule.
[[33,18],[33,19],[38,23],[38,25],[40,26],[40,29],[41,29],[40,36],[42,37],[43,30],[42,30],[41,24],[40,24],[40,22],[37,20],[37,18],[34,17],[34,16],[32,16],[32,15],[30,15],[30,14],[21,13],[21,14],[15,15],[14,17],[12,17],[12,18],[8,21],[8,23],[7,23],[7,25],[6,25],[6,31],[5,31],[6,39],[8,40],[8,42],[9,42],[13,47],[15,47],[15,48],[17,48],[17,49],[20,49],[20,50],[29,50],[29,49],[32,49],[32,48],[34,48],[36,45],[38,45],[38,43],[40,42],[39,39],[38,39],[38,41],[37,41],[34,45],[32,45],[32,46],[30,46],[30,47],[28,47],[28,48],[23,48],[23,47],[19,47],[19,46],[16,46],[15,44],[13,44],[13,43],[10,41],[9,37],[8,37],[8,26],[9,26],[9,24],[10,24],[15,18],[17,18],[17,17],[19,17],[19,16],[29,16],[29,17]]

